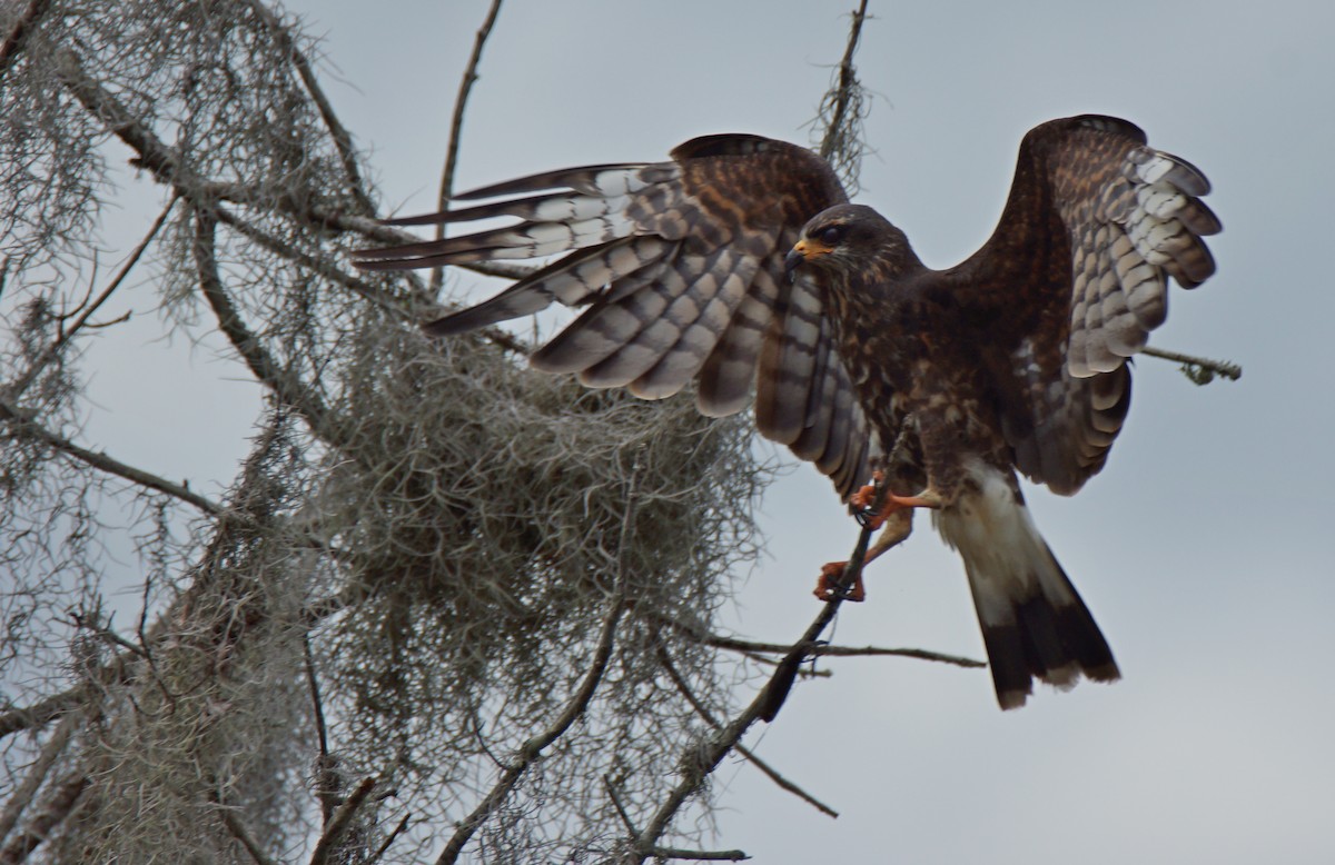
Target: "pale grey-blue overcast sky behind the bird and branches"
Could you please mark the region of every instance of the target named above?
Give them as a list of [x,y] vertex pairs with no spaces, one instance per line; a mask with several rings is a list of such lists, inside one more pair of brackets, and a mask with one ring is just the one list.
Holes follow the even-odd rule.
[[[459,187],[659,159],[706,132],[806,143],[852,5],[509,0]],[[326,36],[328,91],[372,151],[386,200],[431,208],[485,0],[290,8]],[[1335,861],[1335,300],[1320,270],[1335,222],[1335,5],[873,0],[872,13],[857,61],[876,93],[876,155],[860,202],[945,267],[991,232],[1029,127],[1127,117],[1210,176],[1224,223],[1218,275],[1173,288],[1153,344],[1234,359],[1246,375],[1197,388],[1140,362],[1104,473],[1072,499],[1031,494],[1123,682],[1044,691],[1003,714],[985,671],[822,665],[833,678],[801,685],[748,744],[842,816],[733,762],[716,776],[720,846],[766,864]],[[453,288],[494,287],[463,275]],[[87,435],[210,490],[244,451],[252,386],[208,351],[164,364],[168,351],[180,347],[105,355],[93,394],[115,410]],[[183,408],[180,427],[158,439],[135,426],[151,414],[127,400],[183,399],[202,380],[214,395]],[[768,555],[734,626],[786,642],[817,611],[820,565],[845,558],[857,531],[805,466],[762,510]],[[870,569],[868,591],[845,605],[838,642],[981,657],[963,566],[926,521]]]

